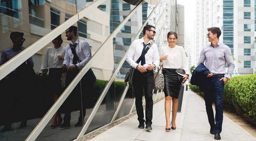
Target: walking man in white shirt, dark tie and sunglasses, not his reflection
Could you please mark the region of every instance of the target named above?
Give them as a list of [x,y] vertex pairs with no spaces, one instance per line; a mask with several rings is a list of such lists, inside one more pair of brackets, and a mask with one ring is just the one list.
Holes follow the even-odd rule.
[[[126,61],[134,68],[133,74],[133,86],[135,92],[135,105],[138,114],[139,126],[138,128],[144,129],[144,113],[142,106],[142,95],[144,89],[144,95],[146,99],[146,129],[152,130],[152,115],[153,115],[153,81],[154,73],[153,69],[159,65],[159,53],[157,45],[150,40],[154,39],[156,35],[156,28],[151,25],[147,25],[143,28],[143,38],[132,42],[128,51]],[[141,61],[137,64],[135,61],[140,57],[141,53],[146,49],[146,46],[151,44],[151,48],[146,53],[145,57],[142,57]]]

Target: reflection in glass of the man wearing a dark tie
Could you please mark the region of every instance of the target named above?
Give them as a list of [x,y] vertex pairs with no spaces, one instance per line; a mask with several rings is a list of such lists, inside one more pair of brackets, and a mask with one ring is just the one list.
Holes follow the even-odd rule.
[[[62,64],[63,69],[67,69],[67,80],[66,86],[70,84],[70,82],[75,78],[75,76],[79,73],[80,69],[84,67],[84,65],[91,59],[92,54],[90,50],[90,46],[87,42],[83,40],[79,40],[77,37],[77,27],[71,26],[66,30],[67,40],[71,41],[70,44],[66,46],[66,53],[64,57],[64,62]],[[86,113],[86,95],[92,92],[92,86],[96,80],[96,77],[90,68],[85,76],[81,80],[82,86],[82,95],[80,84],[74,88],[70,96],[66,99],[64,103],[64,123],[60,126],[61,128],[70,127],[70,119],[71,119],[71,105],[74,103],[79,103],[80,115],[78,118],[78,122],[75,124],[75,127],[79,127],[83,125],[84,117]],[[81,98],[83,103],[81,103]],[[74,102],[71,103],[71,101]],[[81,106],[83,105],[83,107]],[[82,110],[83,108],[83,110]],[[83,116],[83,117],[82,117]]]

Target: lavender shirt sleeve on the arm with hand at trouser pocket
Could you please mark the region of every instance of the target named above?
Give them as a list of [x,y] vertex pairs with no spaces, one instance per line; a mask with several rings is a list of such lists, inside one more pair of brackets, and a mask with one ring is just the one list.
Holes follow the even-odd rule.
[[235,68],[235,64],[234,64],[234,60],[233,60],[233,56],[230,48],[226,48],[225,50],[225,59],[228,64],[227,77],[230,78]]

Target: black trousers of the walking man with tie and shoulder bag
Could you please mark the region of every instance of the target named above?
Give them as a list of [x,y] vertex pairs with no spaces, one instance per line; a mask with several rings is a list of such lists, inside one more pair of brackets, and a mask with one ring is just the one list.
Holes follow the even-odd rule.
[[135,105],[138,114],[138,121],[140,124],[144,123],[144,113],[142,106],[142,95],[144,90],[145,100],[146,100],[146,125],[152,125],[152,115],[153,115],[153,81],[154,73],[146,72],[140,73],[137,69],[134,70],[133,74],[133,85],[135,92]]

